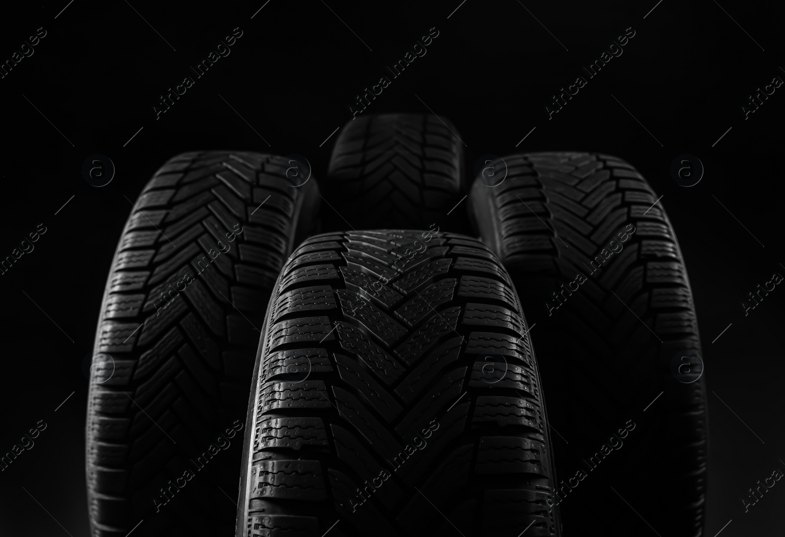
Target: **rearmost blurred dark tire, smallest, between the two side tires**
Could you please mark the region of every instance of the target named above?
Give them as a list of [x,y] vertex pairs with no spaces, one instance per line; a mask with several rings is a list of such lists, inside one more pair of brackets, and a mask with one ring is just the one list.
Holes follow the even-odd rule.
[[[332,209],[324,231],[351,228],[424,229],[436,223],[463,231],[463,143],[449,119],[430,114],[363,115],[335,142],[323,182]],[[466,227],[468,231],[468,227]]]

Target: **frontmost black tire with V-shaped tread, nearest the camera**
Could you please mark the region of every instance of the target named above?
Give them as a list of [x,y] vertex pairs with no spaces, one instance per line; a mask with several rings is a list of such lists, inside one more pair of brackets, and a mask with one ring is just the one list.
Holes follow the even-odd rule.
[[307,239],[269,302],[235,535],[560,535],[526,330],[476,239]]

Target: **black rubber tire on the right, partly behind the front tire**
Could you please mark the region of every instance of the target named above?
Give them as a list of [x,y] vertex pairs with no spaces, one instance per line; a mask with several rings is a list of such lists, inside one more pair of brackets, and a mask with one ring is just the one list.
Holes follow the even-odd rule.
[[[647,535],[651,524],[662,535],[703,535],[706,387],[702,376],[695,382],[699,367],[687,374],[679,361],[695,364],[701,350],[668,217],[616,157],[504,161],[506,180],[476,181],[468,208],[536,324],[551,424],[563,435],[554,443],[560,475],[590,475],[575,491],[564,485],[565,532]],[[640,429],[619,431],[626,420]],[[601,448],[616,433],[626,440]]]

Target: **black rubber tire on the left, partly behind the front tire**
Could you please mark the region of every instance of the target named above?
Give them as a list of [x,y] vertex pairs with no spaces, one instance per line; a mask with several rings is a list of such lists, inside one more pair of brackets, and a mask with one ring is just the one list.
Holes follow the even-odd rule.
[[[316,181],[286,159],[194,152],[144,188],[111,263],[87,407],[91,533],[225,535],[265,307]],[[266,201],[265,201],[266,200]],[[260,206],[262,202],[264,205]],[[231,439],[231,440],[230,440]]]

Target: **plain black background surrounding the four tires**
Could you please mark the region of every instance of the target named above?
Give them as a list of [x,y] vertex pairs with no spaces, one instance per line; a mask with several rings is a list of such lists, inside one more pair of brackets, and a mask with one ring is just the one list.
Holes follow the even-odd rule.
[[[357,93],[376,84],[385,65],[431,27],[440,33],[425,57],[366,113],[425,112],[425,103],[458,126],[467,170],[485,153],[550,150],[604,152],[637,166],[663,195],[703,335],[710,390],[706,533],[714,535],[728,520],[723,535],[774,535],[783,527],[785,482],[748,513],[740,501],[772,469],[785,471],[785,290],[776,287],[748,316],[741,306],[743,296],[773,272],[785,275],[785,87],[749,119],[741,111],[756,88],[785,77],[778,68],[785,68],[781,8],[664,0],[644,19],[655,0],[468,0],[447,19],[459,3],[328,0],[331,13],[320,0],[271,0],[253,19],[264,0],[132,2],[141,15],[125,1],[75,0],[57,19],[65,0],[15,12],[3,8],[3,58],[36,28],[47,34],[33,56],[0,80],[0,257],[36,225],[47,231],[35,250],[0,276],[0,450],[38,420],[49,425],[0,473],[0,534],[66,535],[65,529],[87,535],[89,381],[82,360],[91,355],[111,257],[132,208],[126,196],[136,199],[166,159],[200,149],[298,153],[310,160],[318,180],[337,134],[319,144],[351,119],[348,106]],[[189,65],[234,27],[243,36],[232,53],[156,120],[152,106],[159,95],[192,75]],[[627,27],[636,34],[623,55],[549,120],[544,106],[551,95],[573,83],[581,65]],[[82,161],[94,153],[108,155],[116,166],[103,188],[81,175]],[[706,168],[692,188],[670,177],[671,161],[683,153],[697,155]],[[344,216],[351,222],[350,214]],[[668,449],[668,439],[662,443]],[[633,475],[618,479],[628,488],[646,486]],[[581,494],[575,491],[571,501],[629,509],[610,491],[607,498]],[[668,528],[648,522],[667,534]]]

